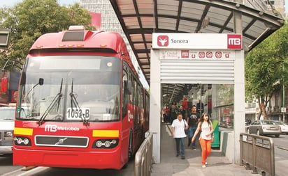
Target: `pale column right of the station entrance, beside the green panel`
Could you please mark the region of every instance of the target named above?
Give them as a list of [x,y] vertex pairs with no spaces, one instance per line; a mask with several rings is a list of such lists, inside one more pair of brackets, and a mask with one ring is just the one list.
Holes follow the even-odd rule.
[[240,163],[240,133],[245,132],[244,50],[235,51],[234,63],[234,161]]

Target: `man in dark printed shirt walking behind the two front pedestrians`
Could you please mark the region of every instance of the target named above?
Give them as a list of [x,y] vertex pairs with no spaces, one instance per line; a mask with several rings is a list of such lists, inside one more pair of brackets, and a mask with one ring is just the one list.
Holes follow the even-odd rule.
[[[188,134],[188,147],[191,145],[191,139],[194,136],[194,133],[197,129],[197,125],[198,125],[198,121],[200,118],[200,114],[197,113],[197,109],[196,106],[193,105],[192,106],[192,111],[190,113],[190,115],[187,117],[187,123],[189,125],[189,134]],[[192,143],[192,150],[196,150],[196,141],[194,141]]]

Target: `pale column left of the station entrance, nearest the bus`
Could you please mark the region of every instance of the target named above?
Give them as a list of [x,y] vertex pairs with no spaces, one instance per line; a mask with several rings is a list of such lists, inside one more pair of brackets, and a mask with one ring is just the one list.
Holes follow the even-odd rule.
[[161,82],[159,50],[150,52],[150,122],[149,129],[153,134],[153,159],[160,163],[160,132],[161,132]]

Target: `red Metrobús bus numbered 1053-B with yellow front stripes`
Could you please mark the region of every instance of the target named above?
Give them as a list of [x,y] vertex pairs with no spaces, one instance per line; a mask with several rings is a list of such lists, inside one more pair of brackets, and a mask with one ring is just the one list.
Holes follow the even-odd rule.
[[38,38],[16,111],[20,166],[121,169],[149,129],[149,95],[118,33],[74,28]]

